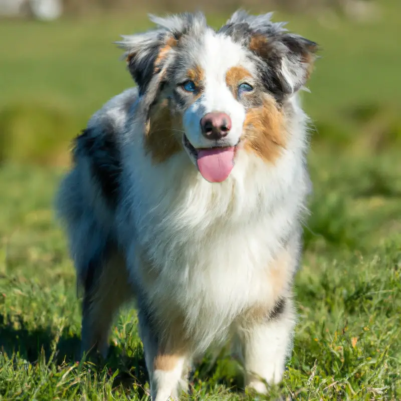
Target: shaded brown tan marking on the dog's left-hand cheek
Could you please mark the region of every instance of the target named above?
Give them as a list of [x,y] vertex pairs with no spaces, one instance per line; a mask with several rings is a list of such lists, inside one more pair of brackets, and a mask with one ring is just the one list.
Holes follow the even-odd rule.
[[145,150],[151,153],[154,162],[162,163],[182,150],[177,136],[179,129],[167,101],[154,107],[145,136]]

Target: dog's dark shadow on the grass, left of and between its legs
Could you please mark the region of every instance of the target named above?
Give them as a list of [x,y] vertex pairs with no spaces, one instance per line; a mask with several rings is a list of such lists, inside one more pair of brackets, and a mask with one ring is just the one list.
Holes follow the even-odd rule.
[[[9,357],[18,354],[22,359],[36,364],[47,363],[52,358],[55,345],[55,333],[50,327],[36,329],[28,328],[22,318],[12,321],[0,315],[0,351]],[[57,366],[71,364],[80,359],[81,338],[71,334],[69,328],[64,328],[58,339],[53,364]],[[140,347],[141,348],[141,347]],[[128,355],[129,353],[129,355]],[[117,369],[118,374],[113,379],[113,387],[124,390],[136,384],[140,398],[145,395],[144,384],[148,382],[145,360],[142,349],[124,349],[111,345],[106,360],[96,352],[90,352],[86,357],[90,361],[90,369],[111,376]],[[94,364],[94,365],[93,365]],[[189,376],[190,387],[198,382],[206,386],[224,385],[230,392],[243,391],[243,379],[237,363],[228,356],[220,357],[213,363],[206,357],[196,370]]]

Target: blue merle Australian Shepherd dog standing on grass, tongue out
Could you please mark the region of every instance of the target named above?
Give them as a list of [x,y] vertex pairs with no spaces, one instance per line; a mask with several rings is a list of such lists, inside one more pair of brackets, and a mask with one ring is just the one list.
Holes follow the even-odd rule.
[[194,358],[232,338],[266,393],[292,352],[292,282],[311,182],[299,92],[318,45],[243,10],[150,16],[123,36],[136,83],[75,139],[57,211],[83,288],[82,351],[106,356],[134,300],[151,397],[176,399]]

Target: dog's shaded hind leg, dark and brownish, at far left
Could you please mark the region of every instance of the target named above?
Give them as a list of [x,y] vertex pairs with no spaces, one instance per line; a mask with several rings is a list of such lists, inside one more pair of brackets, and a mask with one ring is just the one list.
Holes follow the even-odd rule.
[[84,283],[81,355],[97,348],[105,358],[113,318],[133,292],[122,255],[115,251],[99,264],[89,267]]

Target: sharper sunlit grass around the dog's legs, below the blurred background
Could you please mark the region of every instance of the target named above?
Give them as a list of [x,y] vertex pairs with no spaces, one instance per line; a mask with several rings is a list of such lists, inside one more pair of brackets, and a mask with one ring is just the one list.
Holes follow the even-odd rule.
[[[296,277],[295,348],[283,384],[272,394],[316,401],[400,399],[397,157],[311,152],[315,194]],[[59,173],[19,164],[0,170],[6,189],[0,198],[0,396],[146,399],[134,310],[125,309],[116,320],[105,364],[77,362],[80,303],[51,209]],[[240,366],[226,354],[210,372],[206,367],[207,359],[192,380],[195,399],[253,399],[240,390]]]

